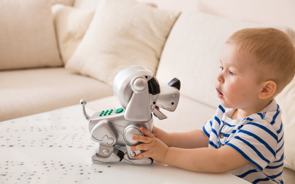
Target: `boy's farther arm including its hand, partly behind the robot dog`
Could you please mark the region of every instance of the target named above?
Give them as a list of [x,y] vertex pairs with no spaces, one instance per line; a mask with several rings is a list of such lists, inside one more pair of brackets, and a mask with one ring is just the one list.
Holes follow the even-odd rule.
[[209,145],[209,137],[199,129],[186,132],[167,133],[160,128],[153,127],[153,135],[165,143],[168,147],[176,148],[204,148]]

